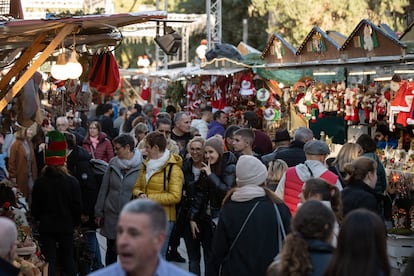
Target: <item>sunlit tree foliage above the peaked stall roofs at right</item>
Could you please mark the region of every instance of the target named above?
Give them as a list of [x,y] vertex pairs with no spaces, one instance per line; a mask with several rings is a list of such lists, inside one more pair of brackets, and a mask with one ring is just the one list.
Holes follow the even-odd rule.
[[269,33],[278,32],[298,47],[314,25],[348,36],[366,18],[402,32],[406,27],[403,24],[404,9],[409,6],[409,1],[252,0],[252,4],[262,16],[269,16]]

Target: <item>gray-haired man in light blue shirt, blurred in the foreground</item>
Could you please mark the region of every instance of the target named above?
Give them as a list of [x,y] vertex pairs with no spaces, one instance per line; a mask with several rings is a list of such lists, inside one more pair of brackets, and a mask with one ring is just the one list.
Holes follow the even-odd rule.
[[99,275],[193,275],[161,258],[167,231],[164,208],[149,199],[136,199],[124,206],[117,225],[119,261],[92,273]]

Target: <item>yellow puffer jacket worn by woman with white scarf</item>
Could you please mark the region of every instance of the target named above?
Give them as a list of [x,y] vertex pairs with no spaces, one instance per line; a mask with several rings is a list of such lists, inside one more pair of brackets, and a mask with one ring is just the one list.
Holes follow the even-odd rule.
[[145,181],[147,163],[148,160],[145,160],[142,165],[132,194],[134,197],[138,197],[143,193],[146,194],[149,199],[164,206],[168,220],[175,221],[175,205],[180,202],[183,190],[184,176],[181,170],[183,160],[179,155],[170,153],[168,161],[151,176],[148,180],[148,185],[146,185]]

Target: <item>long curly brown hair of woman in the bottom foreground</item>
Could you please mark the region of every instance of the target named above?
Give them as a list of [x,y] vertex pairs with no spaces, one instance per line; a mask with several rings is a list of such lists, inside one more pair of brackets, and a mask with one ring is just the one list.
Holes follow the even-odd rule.
[[306,239],[327,241],[335,224],[333,212],[317,200],[306,201],[292,220],[280,256],[280,275],[309,275],[312,270]]

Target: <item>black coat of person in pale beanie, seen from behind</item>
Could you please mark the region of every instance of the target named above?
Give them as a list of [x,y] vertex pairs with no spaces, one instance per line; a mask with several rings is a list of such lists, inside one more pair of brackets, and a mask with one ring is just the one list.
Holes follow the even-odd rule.
[[[256,202],[259,205],[229,254],[231,244]],[[278,208],[282,220],[289,224],[289,209],[283,204]],[[223,275],[266,275],[267,267],[279,253],[279,223],[274,204],[266,196],[244,202],[228,201],[220,212],[206,275],[218,275],[223,260],[226,260]]]

